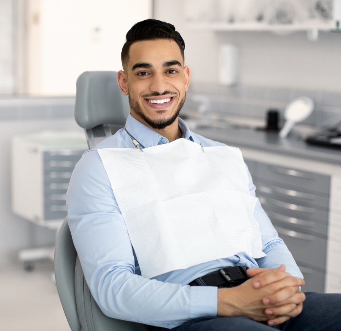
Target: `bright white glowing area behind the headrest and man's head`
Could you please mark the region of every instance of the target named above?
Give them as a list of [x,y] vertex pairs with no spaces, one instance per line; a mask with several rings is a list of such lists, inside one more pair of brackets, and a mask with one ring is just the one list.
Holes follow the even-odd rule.
[[28,93],[75,95],[88,70],[120,70],[133,23],[150,18],[150,0],[29,0]]

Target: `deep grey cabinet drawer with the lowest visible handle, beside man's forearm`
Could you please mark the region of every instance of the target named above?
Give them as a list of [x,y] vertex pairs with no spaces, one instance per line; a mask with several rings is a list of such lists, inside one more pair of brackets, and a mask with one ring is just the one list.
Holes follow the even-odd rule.
[[295,260],[325,270],[326,240],[311,234],[284,229],[274,224]]

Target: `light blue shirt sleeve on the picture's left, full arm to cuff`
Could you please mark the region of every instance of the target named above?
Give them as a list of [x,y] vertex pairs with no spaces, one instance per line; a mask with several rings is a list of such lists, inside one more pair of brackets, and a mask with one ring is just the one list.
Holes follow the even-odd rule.
[[85,279],[104,314],[174,328],[216,316],[217,288],[190,287],[135,273],[127,228],[96,151],[77,163],[67,192],[68,223]]

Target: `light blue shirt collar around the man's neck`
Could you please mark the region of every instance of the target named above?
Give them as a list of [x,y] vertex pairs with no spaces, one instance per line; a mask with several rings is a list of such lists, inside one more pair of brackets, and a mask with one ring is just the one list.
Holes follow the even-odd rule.
[[[181,118],[179,118],[179,127],[183,138],[194,141],[189,127]],[[148,126],[139,122],[131,114],[128,115],[126,129],[144,148],[169,142],[166,137],[161,136]]]

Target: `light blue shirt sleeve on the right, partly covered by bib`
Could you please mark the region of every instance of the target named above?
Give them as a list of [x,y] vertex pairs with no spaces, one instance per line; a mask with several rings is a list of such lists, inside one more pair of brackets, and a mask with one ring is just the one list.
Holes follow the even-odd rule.
[[[253,184],[252,177],[247,171],[249,177],[250,194],[256,196],[256,186]],[[258,222],[262,234],[263,252],[266,256],[257,259],[260,268],[277,268],[285,265],[285,271],[292,276],[303,278],[303,274],[298,268],[292,254],[288,250],[284,241],[278,236],[278,233],[272,225],[269,217],[266,215],[259,200],[254,209],[254,219]]]

